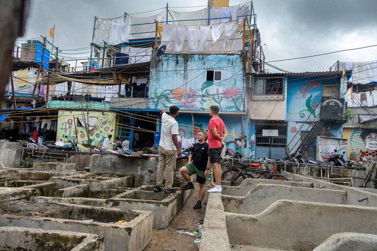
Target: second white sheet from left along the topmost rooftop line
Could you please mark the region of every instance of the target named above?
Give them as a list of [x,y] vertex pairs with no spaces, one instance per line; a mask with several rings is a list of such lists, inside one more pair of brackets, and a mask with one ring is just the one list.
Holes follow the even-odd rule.
[[118,45],[129,41],[130,23],[130,16],[120,17],[111,21],[110,44]]

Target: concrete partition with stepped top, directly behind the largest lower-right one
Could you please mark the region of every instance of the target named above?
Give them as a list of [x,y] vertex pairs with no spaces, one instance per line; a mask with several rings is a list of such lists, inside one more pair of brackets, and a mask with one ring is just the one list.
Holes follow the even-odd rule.
[[277,200],[345,204],[347,192],[276,184],[258,184],[244,197],[222,196],[226,212],[241,214],[259,214]]

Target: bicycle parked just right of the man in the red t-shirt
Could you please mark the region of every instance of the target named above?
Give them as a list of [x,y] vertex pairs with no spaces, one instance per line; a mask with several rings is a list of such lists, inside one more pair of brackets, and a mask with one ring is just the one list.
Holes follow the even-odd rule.
[[[227,169],[222,173],[221,179],[223,181],[230,181],[231,186],[238,186],[246,178],[261,178],[261,179],[274,179],[274,180],[288,180],[287,177],[280,175],[275,167],[272,170],[269,169],[269,163],[275,161],[265,158],[265,161],[261,159],[255,161],[258,164],[246,164],[239,163],[240,166],[226,164]],[[263,163],[261,165],[261,163]],[[266,166],[266,169],[262,167]]]

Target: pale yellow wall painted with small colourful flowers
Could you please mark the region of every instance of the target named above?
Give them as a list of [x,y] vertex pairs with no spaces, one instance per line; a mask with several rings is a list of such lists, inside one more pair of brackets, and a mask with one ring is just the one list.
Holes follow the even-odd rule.
[[[87,151],[81,144],[88,144],[88,138],[86,136],[86,130],[84,127],[76,127],[78,136],[75,133],[75,123],[73,121],[75,116],[76,126],[77,117],[82,116],[81,111],[59,111],[59,117],[57,120],[56,141],[62,139],[67,141],[65,136],[68,136],[69,140],[75,140],[80,143],[80,150]],[[92,131],[89,131],[90,144],[96,147],[101,147],[104,140],[108,137],[108,134],[112,135],[111,143],[115,142],[115,116],[116,114],[110,112],[89,112],[89,117],[97,118],[97,126]],[[78,140],[77,140],[78,138]],[[109,148],[112,150],[112,148]]]

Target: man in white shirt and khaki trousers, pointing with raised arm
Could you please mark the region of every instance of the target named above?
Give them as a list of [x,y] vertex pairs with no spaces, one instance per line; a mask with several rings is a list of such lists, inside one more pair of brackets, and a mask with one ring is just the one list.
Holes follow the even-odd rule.
[[179,114],[179,108],[175,105],[169,107],[170,115],[160,109],[161,116],[161,139],[159,148],[159,166],[157,168],[157,179],[155,192],[162,192],[163,171],[166,171],[165,193],[177,193],[173,189],[174,171],[177,167],[176,151],[181,156],[181,149],[178,145],[178,122],[175,120]]

